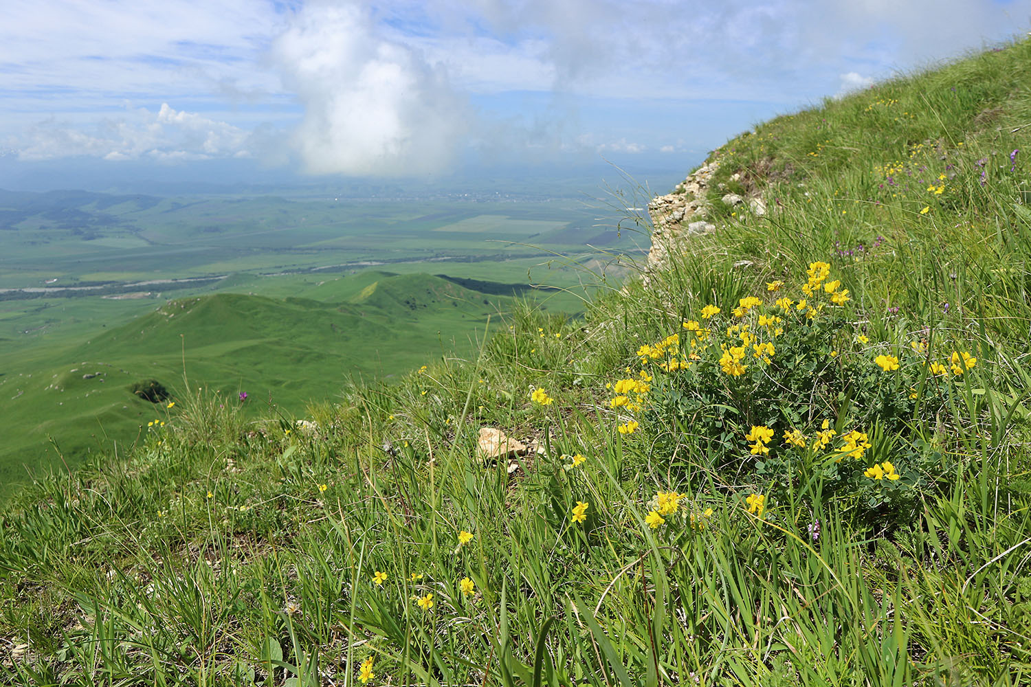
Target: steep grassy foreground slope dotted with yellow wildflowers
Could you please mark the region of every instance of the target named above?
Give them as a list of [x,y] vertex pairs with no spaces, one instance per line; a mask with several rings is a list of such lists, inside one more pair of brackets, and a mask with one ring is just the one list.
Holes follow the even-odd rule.
[[1029,82],[1023,41],[760,125],[712,193],[767,211],[583,320],[300,420],[178,391],[4,510],[0,671],[1026,684]]

